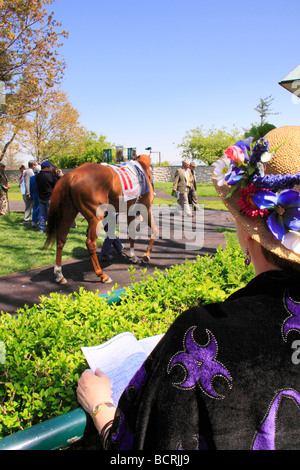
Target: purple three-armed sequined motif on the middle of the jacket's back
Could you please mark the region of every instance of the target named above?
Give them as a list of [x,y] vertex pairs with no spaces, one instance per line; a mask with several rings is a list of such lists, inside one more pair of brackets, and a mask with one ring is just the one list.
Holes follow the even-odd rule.
[[212,381],[216,376],[224,377],[231,382],[228,370],[216,360],[217,342],[212,333],[206,330],[208,335],[207,344],[200,346],[194,341],[193,332],[196,327],[190,328],[185,334],[184,351],[181,351],[172,358],[169,364],[170,372],[175,365],[182,366],[186,372],[185,379],[181,383],[175,383],[178,388],[191,389],[198,384],[201,389],[211,398],[224,398],[217,394]]

